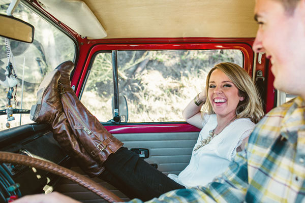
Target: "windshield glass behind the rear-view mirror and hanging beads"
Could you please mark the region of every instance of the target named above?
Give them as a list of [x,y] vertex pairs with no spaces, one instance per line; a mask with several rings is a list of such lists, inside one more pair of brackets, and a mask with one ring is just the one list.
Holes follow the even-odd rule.
[[[0,13],[6,14],[9,4],[0,1]],[[58,64],[73,60],[75,45],[64,33],[57,30],[40,16],[36,15],[21,3],[13,16],[22,19],[35,27],[34,42],[32,44],[11,40],[12,64],[18,77],[17,88],[14,87],[11,99],[14,109],[30,110],[36,103],[38,87],[47,73]],[[8,65],[5,39],[0,37],[0,80],[6,80],[6,67]],[[7,129],[7,115],[5,113],[8,88],[0,84],[0,130]],[[13,114],[15,118],[10,121],[10,127],[32,123],[29,114]]]

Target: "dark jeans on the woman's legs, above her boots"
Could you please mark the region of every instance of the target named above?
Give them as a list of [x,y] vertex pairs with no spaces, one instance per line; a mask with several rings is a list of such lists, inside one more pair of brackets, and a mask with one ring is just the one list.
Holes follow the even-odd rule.
[[103,165],[106,170],[99,178],[131,199],[145,201],[174,189],[185,188],[125,147],[111,154]]

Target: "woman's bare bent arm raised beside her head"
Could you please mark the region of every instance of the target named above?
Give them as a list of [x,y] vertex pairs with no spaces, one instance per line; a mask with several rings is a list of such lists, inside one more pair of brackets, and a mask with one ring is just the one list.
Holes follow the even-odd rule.
[[201,116],[200,109],[206,101],[205,90],[198,94],[197,102],[198,101],[199,101],[199,103],[201,103],[199,106],[197,106],[195,104],[194,99],[192,99],[190,101],[190,103],[188,104],[188,106],[182,111],[182,116],[191,125],[194,125],[198,128],[202,128],[203,119],[202,119],[202,116]]

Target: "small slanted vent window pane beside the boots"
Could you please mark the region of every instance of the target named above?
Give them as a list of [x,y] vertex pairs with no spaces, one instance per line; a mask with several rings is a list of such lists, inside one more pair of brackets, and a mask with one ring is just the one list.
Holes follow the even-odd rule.
[[98,120],[106,122],[112,119],[112,96],[111,53],[99,53],[94,59],[80,100]]

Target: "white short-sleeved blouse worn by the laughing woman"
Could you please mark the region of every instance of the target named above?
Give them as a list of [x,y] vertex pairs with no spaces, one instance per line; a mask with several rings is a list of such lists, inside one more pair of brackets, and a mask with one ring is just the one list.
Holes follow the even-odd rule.
[[[201,139],[206,139],[209,131],[217,126],[216,114],[205,114],[203,120],[203,128],[199,133],[195,147],[200,145]],[[216,176],[225,172],[236,155],[236,148],[243,139],[250,136],[254,126],[255,124],[249,118],[234,120],[209,144],[197,151],[194,151],[194,147],[189,165],[178,176],[169,174],[168,177],[185,187],[206,185]]]

